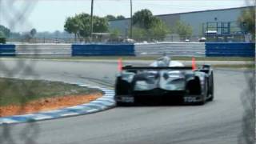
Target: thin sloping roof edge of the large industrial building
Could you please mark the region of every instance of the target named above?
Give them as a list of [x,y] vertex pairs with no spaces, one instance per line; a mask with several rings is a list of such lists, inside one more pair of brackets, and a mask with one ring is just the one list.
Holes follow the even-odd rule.
[[[176,14],[192,14],[192,13],[198,13],[198,12],[209,12],[209,11],[218,11],[218,10],[234,10],[234,9],[242,9],[242,8],[252,8],[254,6],[240,6],[240,7],[231,7],[231,8],[225,8],[225,9],[214,9],[214,10],[198,10],[198,11],[190,11],[190,12],[182,12],[182,13],[174,13],[174,14],[158,14],[158,15],[154,15],[157,17],[161,17],[161,16],[168,16],[168,15],[176,15]],[[124,18],[124,19],[130,19],[130,18]],[[114,21],[122,21],[124,19],[116,19],[116,20],[111,20],[110,22],[114,22]]]

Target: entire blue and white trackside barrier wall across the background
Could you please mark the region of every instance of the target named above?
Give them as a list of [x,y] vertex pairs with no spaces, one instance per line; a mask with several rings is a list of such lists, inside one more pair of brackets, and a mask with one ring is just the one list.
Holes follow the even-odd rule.
[[0,44],[0,56],[162,55],[186,57],[254,57],[255,43],[158,42],[136,44]]

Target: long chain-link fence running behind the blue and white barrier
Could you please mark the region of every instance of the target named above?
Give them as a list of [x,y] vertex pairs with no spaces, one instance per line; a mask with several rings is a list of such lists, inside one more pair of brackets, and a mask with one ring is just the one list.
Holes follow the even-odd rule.
[[25,43],[86,43],[86,42],[99,42],[99,43],[124,43],[124,42],[252,42],[250,34],[239,35],[192,35],[192,36],[179,36],[167,35],[166,37],[140,37],[140,38],[127,38],[124,36],[111,37],[94,37],[92,41],[89,38],[7,38],[7,42],[25,42]]

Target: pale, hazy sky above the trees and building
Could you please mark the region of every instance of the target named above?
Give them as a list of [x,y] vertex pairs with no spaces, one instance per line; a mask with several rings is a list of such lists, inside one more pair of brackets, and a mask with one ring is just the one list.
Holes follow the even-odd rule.
[[[11,31],[63,31],[67,17],[90,14],[91,0],[0,0],[0,25]],[[175,14],[251,6],[254,0],[133,0],[133,11],[149,9],[153,14]],[[98,16],[124,15],[130,18],[130,0],[94,0]]]

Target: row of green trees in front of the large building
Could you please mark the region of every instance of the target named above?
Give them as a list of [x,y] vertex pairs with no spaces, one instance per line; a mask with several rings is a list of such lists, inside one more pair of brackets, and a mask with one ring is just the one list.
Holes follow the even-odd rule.
[[[120,34],[119,30],[110,30],[109,21],[124,19],[122,15],[114,17],[107,15],[106,17],[94,16],[93,33],[110,33],[110,38],[117,38]],[[192,34],[192,27],[183,22],[177,22],[175,29],[171,30],[160,18],[155,17],[150,10],[139,10],[133,15],[132,35],[136,40],[162,40],[167,34],[176,32],[184,36]],[[90,14],[76,14],[74,17],[66,18],[64,30],[70,34],[74,34],[75,38],[90,37]],[[130,30],[127,30],[130,35]]]

